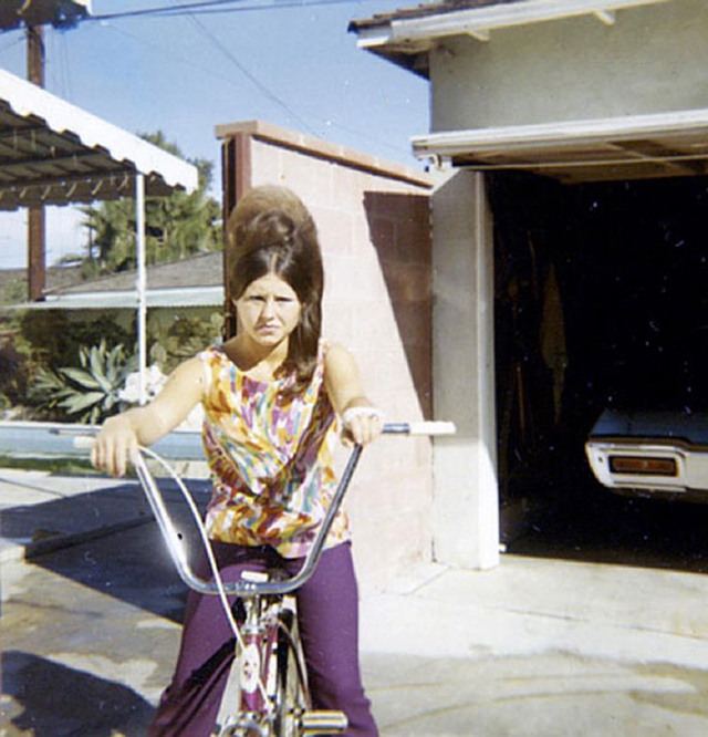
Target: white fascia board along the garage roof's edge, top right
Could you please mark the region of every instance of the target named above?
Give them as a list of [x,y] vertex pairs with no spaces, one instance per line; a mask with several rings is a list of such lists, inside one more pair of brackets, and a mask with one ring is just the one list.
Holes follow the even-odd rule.
[[404,41],[420,41],[448,35],[478,35],[500,28],[541,21],[595,15],[607,22],[612,13],[624,8],[653,6],[670,0],[525,0],[471,8],[424,18],[393,20],[386,27],[362,30],[358,45],[373,48]]

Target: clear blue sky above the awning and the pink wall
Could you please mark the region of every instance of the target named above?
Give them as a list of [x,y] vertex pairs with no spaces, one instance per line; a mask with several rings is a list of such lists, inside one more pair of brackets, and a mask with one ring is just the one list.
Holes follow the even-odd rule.
[[[187,0],[93,0],[94,15]],[[220,176],[217,124],[262,120],[420,166],[412,135],[428,129],[428,85],[356,48],[353,18],[416,4],[361,0],[291,6],[243,0],[231,12],[144,15],[45,31],[46,89],[133,133],[162,129]],[[259,7],[258,10],[246,10]],[[235,12],[235,8],[241,8]],[[0,68],[25,75],[24,32],[0,34]],[[217,184],[218,186],[218,184]],[[218,189],[215,196],[220,196]],[[24,214],[0,215],[0,268],[24,266]],[[50,208],[48,260],[80,250],[70,208]]]

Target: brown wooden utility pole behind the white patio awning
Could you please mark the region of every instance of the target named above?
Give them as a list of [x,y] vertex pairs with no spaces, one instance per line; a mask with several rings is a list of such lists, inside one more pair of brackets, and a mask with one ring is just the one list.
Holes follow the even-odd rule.
[[[40,24],[27,27],[27,79],[44,86],[44,33]],[[44,297],[46,280],[46,239],[44,208],[28,209],[28,297],[37,302]]]

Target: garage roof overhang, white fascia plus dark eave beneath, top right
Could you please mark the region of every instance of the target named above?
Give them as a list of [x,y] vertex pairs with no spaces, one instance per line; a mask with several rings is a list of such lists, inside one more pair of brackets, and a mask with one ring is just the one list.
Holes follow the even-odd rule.
[[440,39],[468,35],[489,41],[493,31],[587,15],[612,25],[625,8],[669,0],[441,0],[353,20],[357,45],[417,74],[428,76],[428,53]]

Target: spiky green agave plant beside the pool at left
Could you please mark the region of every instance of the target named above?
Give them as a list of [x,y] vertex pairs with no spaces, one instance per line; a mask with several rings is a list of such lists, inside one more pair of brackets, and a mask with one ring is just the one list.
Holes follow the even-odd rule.
[[137,357],[123,345],[108,350],[105,341],[79,351],[80,367],[40,369],[32,394],[44,406],[75,415],[82,423],[98,423],[114,414],[125,381],[137,367]]

